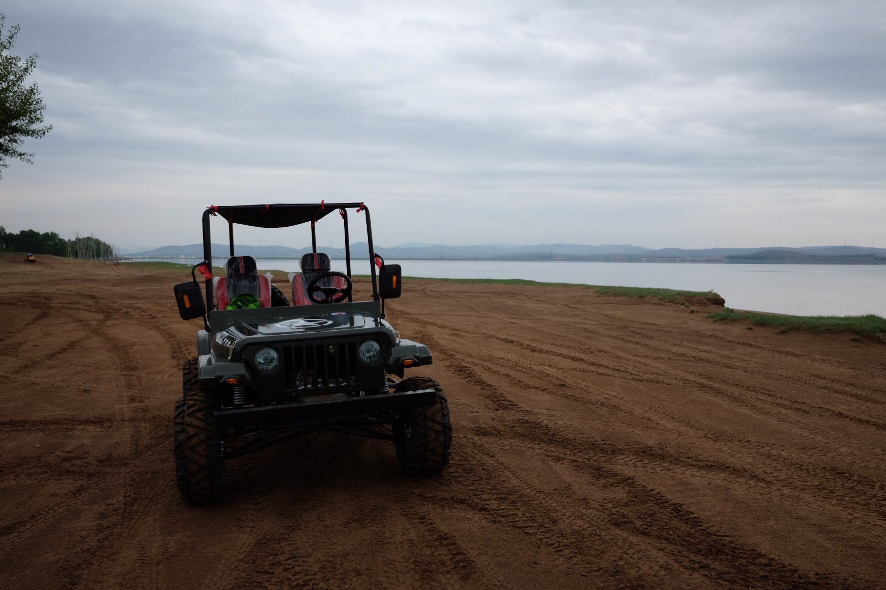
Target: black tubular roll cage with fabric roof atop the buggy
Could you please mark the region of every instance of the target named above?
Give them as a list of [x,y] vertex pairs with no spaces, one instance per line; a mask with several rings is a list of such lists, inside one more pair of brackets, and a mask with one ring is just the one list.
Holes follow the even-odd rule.
[[[342,218],[345,230],[345,261],[347,276],[351,276],[351,240],[348,232],[347,210],[353,209],[356,213],[366,214],[366,240],[369,245],[369,275],[372,277],[372,299],[380,301],[376,275],[375,249],[372,245],[372,222],[369,218],[369,207],[363,203],[325,203],[317,204],[264,204],[264,205],[210,205],[203,211],[203,264],[206,264],[208,272],[206,276],[206,309],[212,310],[214,306],[212,260],[213,242],[211,237],[210,218],[221,216],[228,221],[228,239],[230,252],[234,254],[234,224],[253,227],[291,227],[304,223],[311,224],[311,248],[317,252],[316,223],[337,211]],[[348,297],[353,301],[353,296]]]

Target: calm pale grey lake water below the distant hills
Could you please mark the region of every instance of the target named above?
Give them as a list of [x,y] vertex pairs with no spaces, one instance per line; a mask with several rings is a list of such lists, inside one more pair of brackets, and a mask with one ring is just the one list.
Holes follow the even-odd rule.
[[[179,262],[166,260],[165,262]],[[183,264],[194,264],[190,260]],[[388,260],[403,274],[444,279],[527,279],[546,282],[712,289],[739,310],[795,315],[886,317],[886,266],[850,264],[643,264],[605,262],[501,262],[485,260]],[[220,259],[215,264],[223,264]],[[260,269],[299,272],[298,260],[259,260]],[[345,261],[332,270],[344,272]],[[352,261],[355,274],[368,274],[369,262]],[[408,282],[404,290],[408,293]],[[544,288],[544,287],[540,287]]]

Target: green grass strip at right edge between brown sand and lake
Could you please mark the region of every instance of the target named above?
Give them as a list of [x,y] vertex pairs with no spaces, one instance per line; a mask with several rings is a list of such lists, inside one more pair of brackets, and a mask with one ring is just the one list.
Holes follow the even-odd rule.
[[886,335],[886,318],[867,316],[780,316],[753,311],[726,309],[711,313],[708,318],[715,322],[746,321],[751,326],[772,326],[777,333],[804,330],[812,333],[856,333],[878,339]]

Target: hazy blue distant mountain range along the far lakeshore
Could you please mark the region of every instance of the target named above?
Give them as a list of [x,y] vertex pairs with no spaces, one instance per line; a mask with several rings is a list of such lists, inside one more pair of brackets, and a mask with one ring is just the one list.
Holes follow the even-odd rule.
[[[247,246],[237,245],[237,253],[249,254],[256,258],[299,258],[311,251],[306,248],[289,248],[287,246]],[[332,258],[345,257],[344,248],[321,248]],[[851,258],[866,257],[874,261],[886,257],[886,249],[866,248],[862,246],[804,246],[803,248],[707,248],[680,249],[663,248],[649,249],[633,244],[601,244],[599,246],[582,244],[535,244],[517,246],[513,244],[485,244],[477,246],[447,246],[445,244],[427,244],[408,242],[385,248],[376,246],[382,257],[392,260],[599,260],[627,262],[750,262],[752,255],[766,252],[763,257],[756,257],[754,262],[791,259],[796,263],[825,262],[827,257],[832,263],[851,262]],[[227,244],[213,244],[214,257],[225,257]],[[792,252],[804,256],[774,256],[777,252]],[[131,258],[202,258],[203,244],[187,244],[184,246],[163,246],[143,252],[128,254]],[[369,258],[369,246],[365,241],[356,242],[351,246],[351,257]],[[747,257],[748,259],[742,260]],[[867,263],[871,264],[871,263]],[[881,264],[874,262],[874,264]]]

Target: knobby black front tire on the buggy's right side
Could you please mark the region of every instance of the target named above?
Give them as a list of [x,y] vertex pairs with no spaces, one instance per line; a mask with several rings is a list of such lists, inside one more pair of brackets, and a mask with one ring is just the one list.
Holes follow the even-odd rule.
[[449,464],[452,448],[452,424],[449,403],[439,383],[427,377],[409,377],[394,391],[436,389],[437,405],[407,410],[393,425],[397,459],[404,470],[413,475],[431,477]]

